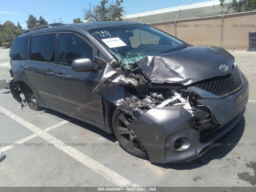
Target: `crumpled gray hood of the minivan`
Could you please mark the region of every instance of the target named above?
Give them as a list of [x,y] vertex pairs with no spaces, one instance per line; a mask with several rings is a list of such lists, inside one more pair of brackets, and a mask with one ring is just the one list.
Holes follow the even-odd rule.
[[[234,57],[219,47],[191,46],[136,61],[153,83],[192,84],[232,71]],[[226,64],[228,70],[219,69]]]

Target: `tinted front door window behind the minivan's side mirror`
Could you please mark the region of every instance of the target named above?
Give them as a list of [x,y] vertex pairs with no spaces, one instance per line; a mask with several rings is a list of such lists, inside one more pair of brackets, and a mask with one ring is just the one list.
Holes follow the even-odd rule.
[[60,33],[59,58],[64,66],[71,66],[75,59],[88,58],[92,61],[92,46],[75,34]]

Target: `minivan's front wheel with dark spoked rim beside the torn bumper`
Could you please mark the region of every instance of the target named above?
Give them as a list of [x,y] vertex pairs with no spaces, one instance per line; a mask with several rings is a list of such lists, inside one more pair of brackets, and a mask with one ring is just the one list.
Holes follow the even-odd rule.
[[146,149],[142,146],[138,136],[127,127],[130,122],[132,122],[132,116],[130,114],[116,109],[112,118],[114,134],[120,146],[126,152],[139,158],[147,158]]

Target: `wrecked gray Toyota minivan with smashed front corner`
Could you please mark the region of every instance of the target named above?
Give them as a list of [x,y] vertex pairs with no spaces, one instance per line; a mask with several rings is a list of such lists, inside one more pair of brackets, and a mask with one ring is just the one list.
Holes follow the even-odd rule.
[[248,81],[218,47],[136,22],[50,24],[16,37],[12,96],[114,132],[152,162],[190,161],[243,117]]

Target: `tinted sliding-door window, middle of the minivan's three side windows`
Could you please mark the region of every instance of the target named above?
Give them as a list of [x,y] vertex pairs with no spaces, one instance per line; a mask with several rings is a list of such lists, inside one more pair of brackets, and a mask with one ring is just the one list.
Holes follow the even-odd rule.
[[55,63],[55,36],[55,33],[32,36],[30,60]]

